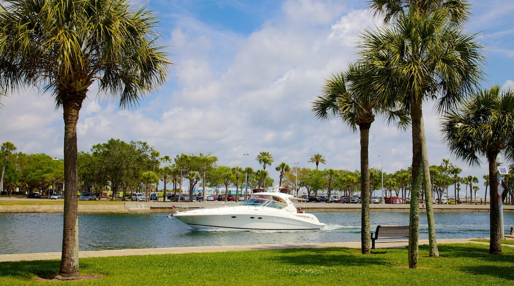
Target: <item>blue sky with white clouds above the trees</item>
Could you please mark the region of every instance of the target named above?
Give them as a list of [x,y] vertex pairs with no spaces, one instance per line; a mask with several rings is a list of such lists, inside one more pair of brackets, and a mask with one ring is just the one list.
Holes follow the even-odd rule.
[[[144,4],[133,1],[134,8]],[[77,126],[78,150],[110,138],[147,142],[161,156],[212,153],[218,165],[262,168],[255,157],[270,152],[274,170],[281,162],[314,169],[309,158],[320,153],[320,169],[360,169],[359,134],[341,121],[320,121],[311,102],[323,80],[356,58],[358,35],[382,25],[362,0],[152,0],[147,9],[159,16],[157,31],[170,60],[166,84],[122,110],[118,102],[91,87]],[[478,33],[486,47],[484,88],[514,87],[514,2],[471,1],[464,30]],[[0,141],[17,151],[63,157],[62,108],[51,94],[28,87],[3,98]],[[480,179],[487,161],[470,168],[441,140],[439,114],[424,106],[430,165],[443,159]],[[249,153],[248,156],[243,154]],[[379,157],[378,155],[382,155]],[[400,132],[376,117],[370,130],[370,167],[394,173],[412,164],[410,130]],[[295,162],[299,162],[295,164]],[[506,162],[511,164],[511,162]],[[463,187],[461,187],[463,188]],[[461,191],[464,193],[464,188]]]

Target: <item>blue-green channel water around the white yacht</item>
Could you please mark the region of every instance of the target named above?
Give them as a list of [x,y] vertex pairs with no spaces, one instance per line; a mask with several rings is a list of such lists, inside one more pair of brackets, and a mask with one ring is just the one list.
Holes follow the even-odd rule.
[[[193,231],[164,213],[79,214],[79,250],[115,250],[192,246],[360,241],[360,213],[315,213],[323,231],[228,232]],[[489,213],[435,213],[437,238],[489,237]],[[504,213],[505,231],[514,213]],[[409,213],[373,212],[371,228],[408,225]],[[62,213],[0,214],[0,255],[60,252]],[[427,219],[420,216],[420,239],[428,238]]]

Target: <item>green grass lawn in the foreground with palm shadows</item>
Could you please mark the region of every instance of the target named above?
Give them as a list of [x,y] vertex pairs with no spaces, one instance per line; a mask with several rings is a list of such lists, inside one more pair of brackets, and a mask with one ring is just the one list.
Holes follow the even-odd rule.
[[[220,247],[223,248],[223,247]],[[99,276],[73,285],[512,285],[514,248],[489,255],[482,244],[440,244],[442,257],[421,246],[418,268],[406,249],[291,249],[80,259],[81,274]],[[1,285],[41,285],[59,260],[0,263]],[[45,282],[45,281],[43,281]]]

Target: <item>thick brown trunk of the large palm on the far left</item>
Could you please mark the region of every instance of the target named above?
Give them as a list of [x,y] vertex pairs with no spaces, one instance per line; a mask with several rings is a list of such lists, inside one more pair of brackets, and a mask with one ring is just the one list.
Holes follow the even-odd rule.
[[[85,96],[84,96],[85,98]],[[77,213],[77,121],[82,100],[63,103],[64,110],[64,225],[58,279],[72,280],[79,273],[79,217]]]

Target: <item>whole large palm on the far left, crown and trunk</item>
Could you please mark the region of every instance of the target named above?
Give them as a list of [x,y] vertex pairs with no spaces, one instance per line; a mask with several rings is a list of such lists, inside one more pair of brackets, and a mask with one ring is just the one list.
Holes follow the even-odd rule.
[[64,117],[63,248],[59,279],[79,277],[77,121],[97,80],[122,108],[161,87],[171,64],[157,17],[126,0],[13,0],[0,10],[0,85],[52,91]]

